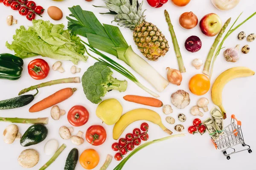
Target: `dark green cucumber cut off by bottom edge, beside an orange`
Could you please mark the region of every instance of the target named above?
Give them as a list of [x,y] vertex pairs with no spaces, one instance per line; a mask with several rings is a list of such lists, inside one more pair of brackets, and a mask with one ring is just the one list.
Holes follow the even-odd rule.
[[67,156],[64,170],[75,170],[78,160],[78,150],[73,148]]

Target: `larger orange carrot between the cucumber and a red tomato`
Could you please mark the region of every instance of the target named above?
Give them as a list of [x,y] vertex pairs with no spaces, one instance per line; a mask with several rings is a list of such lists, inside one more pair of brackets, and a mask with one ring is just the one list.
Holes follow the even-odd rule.
[[37,102],[35,105],[32,105],[32,107],[29,108],[29,112],[33,113],[33,112],[42,111],[53,105],[63,102],[64,100],[72,96],[75,91],[76,91],[76,88],[61,89],[56,93],[52,94],[51,96],[48,96],[47,98],[41,100],[40,102]]

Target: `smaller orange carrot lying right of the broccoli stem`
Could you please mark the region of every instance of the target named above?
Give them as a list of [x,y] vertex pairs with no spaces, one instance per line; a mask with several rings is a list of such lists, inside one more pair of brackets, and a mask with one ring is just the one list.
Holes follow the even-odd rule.
[[152,97],[143,97],[143,96],[135,96],[135,95],[126,95],[123,97],[128,102],[139,103],[142,105],[148,105],[160,108],[163,106],[163,102],[158,99]]

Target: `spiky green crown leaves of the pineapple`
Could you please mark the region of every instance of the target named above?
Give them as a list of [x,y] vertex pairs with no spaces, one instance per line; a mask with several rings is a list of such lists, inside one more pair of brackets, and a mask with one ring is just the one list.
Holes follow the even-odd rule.
[[[138,3],[138,0],[105,0],[106,6],[95,6],[99,8],[107,8],[110,12],[100,14],[113,14],[115,15],[114,22],[117,25],[124,26],[125,28],[134,28],[143,23],[145,16],[143,15],[145,10],[142,11],[142,3]],[[112,22],[113,22],[112,21]]]

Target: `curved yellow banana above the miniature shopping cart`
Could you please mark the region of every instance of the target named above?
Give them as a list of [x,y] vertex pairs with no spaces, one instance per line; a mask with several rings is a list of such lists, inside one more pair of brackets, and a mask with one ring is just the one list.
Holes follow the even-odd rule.
[[212,85],[212,102],[221,109],[224,119],[227,118],[226,111],[222,106],[222,90],[224,86],[232,79],[253,76],[254,74],[255,72],[247,67],[234,67],[224,71],[217,77]]

